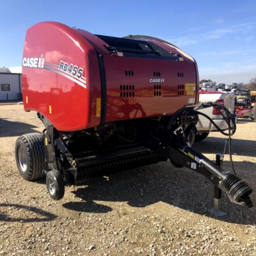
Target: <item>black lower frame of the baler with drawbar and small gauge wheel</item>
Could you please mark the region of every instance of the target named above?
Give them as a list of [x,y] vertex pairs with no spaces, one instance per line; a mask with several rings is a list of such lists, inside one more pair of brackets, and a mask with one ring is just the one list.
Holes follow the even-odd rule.
[[[220,189],[220,191],[225,191],[231,202],[252,207],[252,201],[249,197],[250,193],[252,193],[252,189],[246,182],[236,177],[233,173],[222,170],[218,164],[213,163],[198,152],[198,150],[191,147],[194,138],[189,138],[189,135],[191,135],[191,132],[195,129],[195,124],[198,121],[198,112],[195,111],[195,109],[207,108],[210,106],[212,106],[212,103],[204,104],[203,106],[188,106],[179,109],[173,116],[165,116],[164,122],[167,124],[166,127],[168,127],[168,129],[166,129],[166,127],[161,127],[160,124],[157,125],[159,122],[157,120],[147,120],[147,122],[145,122],[145,119],[134,120],[134,122],[136,122],[137,131],[136,137],[132,141],[134,145],[132,145],[130,151],[131,156],[138,156],[138,154],[144,154],[146,152],[154,156],[151,158],[151,161],[148,161],[147,163],[143,162],[141,165],[157,163],[158,161],[167,161],[170,159],[171,163],[177,168],[185,166],[196,173],[204,175],[216,188]],[[234,125],[234,118],[225,107],[218,104],[215,104],[215,107],[224,109],[228,122],[233,122]],[[72,156],[65,141],[63,141],[65,135],[63,136],[62,133],[58,132],[51,124],[49,124],[49,122],[45,122],[44,116],[40,114],[38,114],[38,116],[44,122],[46,127],[44,132],[44,173],[48,176],[49,173],[52,175],[53,171],[56,176],[55,180],[47,180],[47,189],[54,200],[60,200],[63,197],[65,184],[75,184],[77,174],[78,177],[81,177],[81,173],[79,173],[81,172],[79,170],[80,168],[88,168],[88,166],[97,166],[104,163],[102,171],[106,171],[108,167],[115,169],[118,167],[118,164],[117,166],[115,166],[115,164],[113,166],[109,164],[108,166],[106,163],[116,159],[116,157],[121,161],[120,157],[129,156],[129,150],[124,153],[122,149],[118,148],[116,150],[116,152],[119,152],[118,155],[110,152],[109,154],[104,155],[105,158],[100,156],[99,159],[97,159],[97,157],[94,156],[95,159],[90,161],[89,156],[84,157],[83,160],[79,161],[79,159]],[[229,125],[231,124],[229,123]],[[161,135],[159,135],[157,129],[161,130]],[[115,131],[112,132],[115,133]],[[60,134],[63,138],[60,138]],[[97,154],[99,154],[99,151]],[[135,164],[135,166],[140,166],[140,164]],[[99,170],[95,169],[95,171],[98,171],[97,173],[99,173]],[[83,180],[84,179],[80,179],[79,182],[83,182]],[[51,192],[52,184],[56,186],[54,191],[59,191],[58,194]]]

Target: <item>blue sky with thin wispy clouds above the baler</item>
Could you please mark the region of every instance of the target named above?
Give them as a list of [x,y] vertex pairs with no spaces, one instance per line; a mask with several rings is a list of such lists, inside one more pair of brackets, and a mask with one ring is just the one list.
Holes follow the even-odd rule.
[[1,1],[0,67],[20,66],[26,29],[54,20],[101,35],[157,36],[193,56],[200,79],[256,77],[256,1]]

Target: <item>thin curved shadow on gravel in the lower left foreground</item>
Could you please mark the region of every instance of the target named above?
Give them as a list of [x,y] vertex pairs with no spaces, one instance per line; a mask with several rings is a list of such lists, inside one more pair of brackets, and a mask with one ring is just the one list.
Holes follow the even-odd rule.
[[[13,211],[20,211],[20,209],[23,209],[25,211],[28,211],[29,214],[31,214],[31,218],[13,218],[12,216],[6,216],[4,214],[4,207],[11,207]],[[57,216],[54,214],[51,214],[50,212],[44,211],[42,209],[39,209],[37,207],[28,206],[28,205],[21,205],[21,204],[0,204],[0,210],[3,209],[3,211],[0,211],[0,221],[9,221],[9,222],[20,222],[23,221],[24,223],[28,222],[44,222],[44,221],[52,221]],[[19,212],[20,214],[20,212]],[[35,215],[35,217],[33,217]]]

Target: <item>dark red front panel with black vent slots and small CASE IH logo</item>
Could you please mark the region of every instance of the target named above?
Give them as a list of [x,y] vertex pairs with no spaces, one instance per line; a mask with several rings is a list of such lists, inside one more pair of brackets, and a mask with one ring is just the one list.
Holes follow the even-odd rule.
[[104,56],[104,64],[107,121],[172,115],[185,105],[195,104],[193,61]]

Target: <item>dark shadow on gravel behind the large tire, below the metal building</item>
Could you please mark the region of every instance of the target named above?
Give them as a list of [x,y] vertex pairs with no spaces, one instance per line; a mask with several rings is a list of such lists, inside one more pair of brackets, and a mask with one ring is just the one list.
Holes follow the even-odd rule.
[[20,136],[24,133],[38,132],[35,125],[13,122],[0,118],[0,137]]

